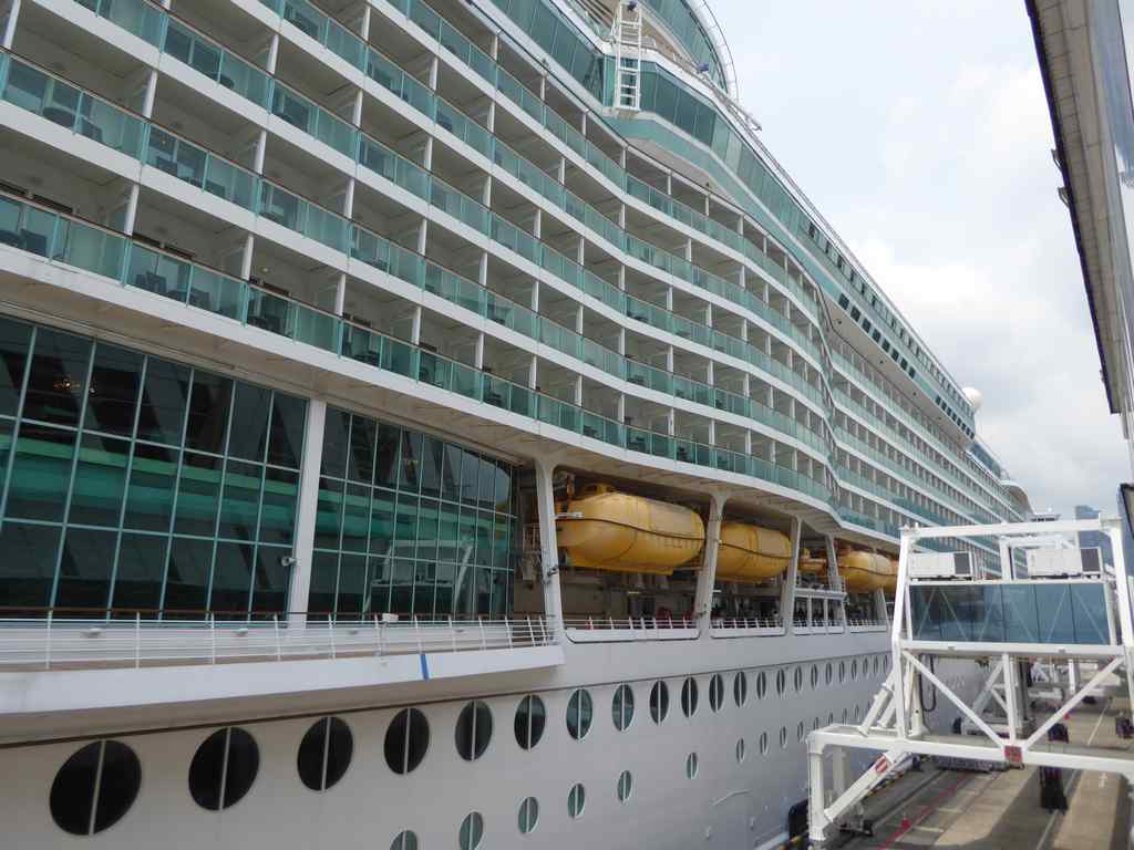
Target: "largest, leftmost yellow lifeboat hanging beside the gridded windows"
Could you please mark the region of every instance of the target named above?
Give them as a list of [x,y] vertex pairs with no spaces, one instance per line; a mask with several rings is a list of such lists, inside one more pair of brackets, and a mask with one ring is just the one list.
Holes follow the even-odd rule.
[[704,545],[696,511],[587,484],[558,505],[556,536],[574,567],[663,576],[693,561]]

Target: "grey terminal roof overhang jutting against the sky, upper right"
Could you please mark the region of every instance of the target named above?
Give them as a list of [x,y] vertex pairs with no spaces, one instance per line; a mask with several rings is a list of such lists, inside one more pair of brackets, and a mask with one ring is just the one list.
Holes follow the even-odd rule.
[[1122,313],[1110,250],[1100,116],[1084,0],[1026,0],[1111,413],[1120,409]]

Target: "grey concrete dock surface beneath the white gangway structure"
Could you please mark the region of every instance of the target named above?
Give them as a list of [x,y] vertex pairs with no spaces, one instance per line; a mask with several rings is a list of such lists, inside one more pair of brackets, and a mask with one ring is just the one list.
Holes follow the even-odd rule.
[[[1134,749],[1115,734],[1125,699],[1083,705],[1067,721],[1073,745]],[[1127,714],[1128,716],[1128,714]],[[1065,772],[1067,811],[1040,806],[1035,767],[991,773],[940,770],[926,762],[866,800],[872,838],[845,836],[848,850],[1128,850],[1128,789],[1117,774]]]

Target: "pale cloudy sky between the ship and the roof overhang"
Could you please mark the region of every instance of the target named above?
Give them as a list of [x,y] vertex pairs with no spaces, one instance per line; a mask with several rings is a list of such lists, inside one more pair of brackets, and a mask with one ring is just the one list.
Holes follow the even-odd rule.
[[711,0],[761,138],[962,386],[1032,508],[1129,478],[1024,0]]

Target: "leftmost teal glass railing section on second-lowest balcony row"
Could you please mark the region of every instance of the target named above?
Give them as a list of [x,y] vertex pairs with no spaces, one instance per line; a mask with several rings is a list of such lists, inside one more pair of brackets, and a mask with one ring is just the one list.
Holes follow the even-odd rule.
[[12,59],[0,96],[71,133],[139,156],[145,121],[39,68]]

